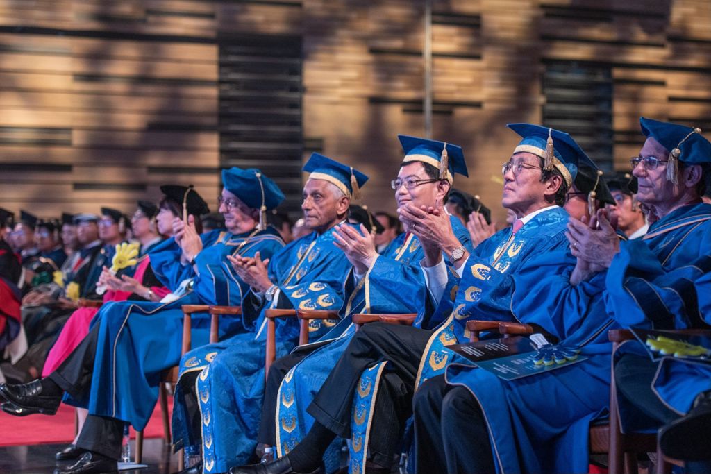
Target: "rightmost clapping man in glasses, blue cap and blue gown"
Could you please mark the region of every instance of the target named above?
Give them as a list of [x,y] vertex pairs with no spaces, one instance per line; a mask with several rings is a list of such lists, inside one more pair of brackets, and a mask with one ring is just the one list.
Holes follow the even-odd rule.
[[[711,237],[711,208],[700,204],[711,144],[688,127],[645,118],[641,126],[647,139],[632,160],[640,182],[638,200],[660,216],[646,237],[621,242],[606,210],[598,210],[589,223],[571,217],[567,238],[574,258],[555,252],[538,262],[545,270],[567,260],[567,269],[537,276],[538,283],[529,274],[514,276],[516,286],[523,284],[526,291],[525,298],[513,301],[514,313],[560,340],[538,356],[561,362],[585,359],[513,380],[471,365],[450,365],[444,377],[425,382],[415,397],[417,473],[432,468],[586,473],[589,424],[604,416],[609,403],[607,330],[650,323],[670,327],[697,313],[697,308],[685,308],[675,288],[688,289],[688,278],[708,271],[698,266],[708,262],[707,249],[680,242]],[[646,355],[621,366],[623,361],[616,367],[621,393],[640,408],[648,405],[643,392],[651,395],[656,367]]]

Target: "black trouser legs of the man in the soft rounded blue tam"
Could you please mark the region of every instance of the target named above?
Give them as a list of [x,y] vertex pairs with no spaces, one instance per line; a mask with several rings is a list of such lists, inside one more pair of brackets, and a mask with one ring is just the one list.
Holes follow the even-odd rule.
[[[99,325],[89,331],[82,342],[48,377],[77,400],[85,399],[91,388]],[[121,456],[124,421],[105,416],[89,415],[84,423],[77,446],[109,458]]]

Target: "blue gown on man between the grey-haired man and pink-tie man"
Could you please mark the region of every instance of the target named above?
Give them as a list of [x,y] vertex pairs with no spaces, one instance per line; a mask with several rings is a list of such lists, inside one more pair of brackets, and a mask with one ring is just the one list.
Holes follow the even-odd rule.
[[[469,252],[471,239],[464,225],[450,217],[452,230]],[[346,280],[350,295],[341,308],[343,320],[324,340],[333,342],[308,355],[287,373],[279,387],[279,402],[274,420],[277,429],[277,454],[284,456],[309,431],[314,418],[306,412],[316,392],[319,392],[333,364],[346,350],[355,327],[351,317],[356,313],[417,313],[416,325],[427,322],[432,303],[425,284],[420,261],[422,246],[415,235],[401,234],[375,260],[373,266],[354,284]],[[341,329],[342,328],[342,329]]]

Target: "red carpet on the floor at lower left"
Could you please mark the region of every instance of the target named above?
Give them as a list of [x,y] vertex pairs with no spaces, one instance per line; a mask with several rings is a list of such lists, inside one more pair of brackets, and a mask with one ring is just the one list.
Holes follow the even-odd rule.
[[[168,397],[169,411],[173,408],[173,397]],[[70,443],[74,439],[75,409],[62,404],[54,416],[32,415],[11,416],[0,411],[2,437],[0,446],[17,446],[39,443]],[[131,430],[131,437],[135,433]],[[160,406],[156,405],[153,416],[144,430],[145,438],[163,436],[163,419]]]

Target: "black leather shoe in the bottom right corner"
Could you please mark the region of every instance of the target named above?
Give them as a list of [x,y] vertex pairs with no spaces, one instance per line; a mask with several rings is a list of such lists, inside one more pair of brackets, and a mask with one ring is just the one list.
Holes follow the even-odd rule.
[[709,458],[711,392],[703,392],[689,413],[659,430],[659,446],[673,459],[700,461]]

